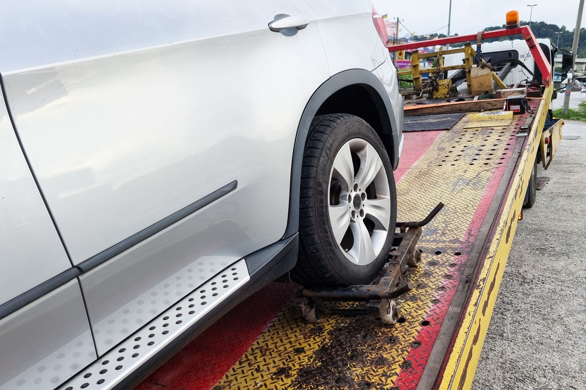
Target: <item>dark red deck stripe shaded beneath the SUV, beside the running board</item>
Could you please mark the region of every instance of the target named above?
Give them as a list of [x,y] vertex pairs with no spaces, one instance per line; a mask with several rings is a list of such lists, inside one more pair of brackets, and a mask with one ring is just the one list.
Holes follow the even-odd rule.
[[271,325],[298,285],[271,283],[207,328],[136,390],[210,389]]

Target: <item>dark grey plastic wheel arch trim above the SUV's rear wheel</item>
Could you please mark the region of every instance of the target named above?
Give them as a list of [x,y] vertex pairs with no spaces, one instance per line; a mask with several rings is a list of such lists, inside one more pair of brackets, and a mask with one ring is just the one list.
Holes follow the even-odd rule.
[[[383,83],[371,71],[363,69],[350,69],[333,75],[326,80],[309,99],[305,106],[304,112],[299,120],[297,127],[297,136],[293,149],[293,158],[291,163],[291,190],[289,191],[289,216],[287,227],[283,237],[289,237],[299,230],[299,192],[301,191],[301,164],[305,149],[305,141],[309,133],[309,125],[318,112],[318,109],[335,92],[350,85],[360,85],[369,92],[370,97],[376,105],[379,113],[380,122],[383,126],[383,132],[386,134],[395,134],[398,131],[397,118],[391,105],[391,99],[384,89]],[[398,163],[398,141],[393,141],[393,168]]]

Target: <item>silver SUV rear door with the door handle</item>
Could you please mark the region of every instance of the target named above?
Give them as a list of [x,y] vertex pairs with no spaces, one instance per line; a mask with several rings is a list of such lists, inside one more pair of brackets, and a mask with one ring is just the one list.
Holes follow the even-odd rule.
[[[329,77],[316,16],[301,0],[8,3],[9,109],[103,354],[284,234],[299,118]],[[268,28],[287,15],[307,25]]]

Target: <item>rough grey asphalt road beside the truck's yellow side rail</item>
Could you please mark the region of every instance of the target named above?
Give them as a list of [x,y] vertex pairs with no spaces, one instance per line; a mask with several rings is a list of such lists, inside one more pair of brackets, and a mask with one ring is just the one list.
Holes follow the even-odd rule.
[[537,171],[551,179],[517,227],[473,390],[586,389],[586,123],[568,136]]

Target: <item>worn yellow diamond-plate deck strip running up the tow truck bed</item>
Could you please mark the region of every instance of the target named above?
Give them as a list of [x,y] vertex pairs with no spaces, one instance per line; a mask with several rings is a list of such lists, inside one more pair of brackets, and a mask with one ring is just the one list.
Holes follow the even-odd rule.
[[[417,388],[455,291],[469,282],[465,265],[486,210],[515,144],[523,142],[514,134],[524,117],[516,119],[511,126],[474,129],[465,129],[461,120],[439,134],[398,182],[398,220],[422,219],[437,202],[445,203],[423,229],[420,266],[404,275],[416,288],[400,300],[400,323],[332,316],[312,324],[284,308],[214,389]],[[502,253],[506,259],[508,251]],[[466,353],[468,342],[458,340],[459,354]],[[449,363],[454,371],[456,360]],[[450,381],[441,385],[449,388]]]

